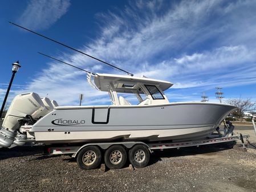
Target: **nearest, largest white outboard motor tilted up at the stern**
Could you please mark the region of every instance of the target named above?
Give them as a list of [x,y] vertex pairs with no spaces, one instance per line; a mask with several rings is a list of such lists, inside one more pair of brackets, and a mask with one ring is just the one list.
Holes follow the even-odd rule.
[[[17,132],[21,127],[21,122],[31,117],[36,111],[44,111],[43,101],[36,93],[25,93],[14,97],[11,105],[3,120],[2,128],[0,129],[0,146],[8,148],[11,144],[23,145],[26,135]],[[21,141],[19,141],[21,140]]]

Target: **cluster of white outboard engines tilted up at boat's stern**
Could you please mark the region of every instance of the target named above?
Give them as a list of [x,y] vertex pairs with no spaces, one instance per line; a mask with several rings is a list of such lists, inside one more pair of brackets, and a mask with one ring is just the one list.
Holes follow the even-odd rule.
[[36,93],[15,96],[0,129],[0,146],[7,148],[11,144],[25,144],[26,134],[19,132],[21,125],[34,124],[57,106],[56,101],[50,101],[47,97],[41,99]]

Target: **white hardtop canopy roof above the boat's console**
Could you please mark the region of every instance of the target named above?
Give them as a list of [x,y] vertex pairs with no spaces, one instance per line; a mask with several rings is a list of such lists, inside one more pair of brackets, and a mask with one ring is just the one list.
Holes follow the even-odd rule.
[[133,93],[139,88],[140,84],[159,85],[162,91],[165,91],[173,85],[169,81],[149,79],[147,77],[136,77],[129,75],[113,75],[105,73],[96,73],[94,83],[100,91],[108,91],[109,84],[112,83],[116,92]]

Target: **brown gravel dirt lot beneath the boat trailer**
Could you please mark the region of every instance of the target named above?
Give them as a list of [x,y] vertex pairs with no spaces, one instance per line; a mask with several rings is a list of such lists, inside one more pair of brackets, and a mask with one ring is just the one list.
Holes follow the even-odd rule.
[[154,152],[146,168],[105,172],[80,170],[68,156],[44,155],[42,146],[1,148],[0,191],[256,191],[256,150],[226,147]]

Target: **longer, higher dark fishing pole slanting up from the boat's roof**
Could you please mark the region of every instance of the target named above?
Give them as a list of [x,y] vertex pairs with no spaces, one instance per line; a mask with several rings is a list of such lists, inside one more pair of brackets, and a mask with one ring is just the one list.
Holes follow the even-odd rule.
[[56,41],[56,40],[54,40],[54,39],[48,38],[47,36],[44,36],[44,35],[42,35],[42,34],[39,34],[38,32],[35,32],[35,31],[32,31],[32,30],[30,30],[30,29],[28,29],[28,28],[22,27],[22,26],[20,26],[20,25],[18,25],[18,24],[15,24],[15,23],[13,23],[13,22],[9,22],[9,23],[10,23],[10,24],[13,24],[14,26],[23,28],[23,29],[26,30],[26,31],[30,31],[30,32],[32,32],[32,33],[34,33],[34,34],[36,34],[36,35],[42,36],[43,38],[48,39],[48,40],[51,40],[52,42],[58,43],[58,44],[60,44],[60,45],[62,45],[62,46],[64,46],[64,47],[70,48],[70,49],[73,50],[73,51],[80,52],[80,54],[86,55],[86,56],[88,56],[88,57],[90,57],[90,58],[92,58],[92,59],[95,59],[95,60],[97,60],[97,61],[99,61],[99,62],[105,63],[105,64],[107,64],[108,66],[111,66],[111,67],[113,67],[113,68],[116,68],[117,70],[120,70],[120,71],[123,71],[123,72],[127,73],[128,75],[133,76],[133,74],[130,73],[130,72],[128,72],[128,71],[122,70],[121,68],[116,67],[116,66],[113,66],[112,64],[109,64],[109,63],[107,63],[107,62],[104,62],[103,60],[97,59],[97,58],[95,58],[94,56],[91,56],[91,55],[88,55],[88,54],[86,54],[86,53],[84,53],[84,52],[82,52],[82,51],[76,50],[75,48],[70,47],[70,46],[67,46],[66,44],[60,43],[60,42],[58,42],[58,41]]

